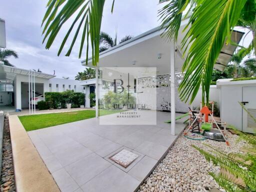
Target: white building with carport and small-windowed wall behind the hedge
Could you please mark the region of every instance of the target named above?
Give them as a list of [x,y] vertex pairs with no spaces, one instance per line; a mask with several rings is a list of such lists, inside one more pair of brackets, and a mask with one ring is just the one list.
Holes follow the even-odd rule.
[[[5,66],[0,63],[0,110],[28,108],[28,72],[27,69]],[[34,72],[35,91],[62,92],[73,90],[85,93],[79,80],[55,78],[52,74]]]

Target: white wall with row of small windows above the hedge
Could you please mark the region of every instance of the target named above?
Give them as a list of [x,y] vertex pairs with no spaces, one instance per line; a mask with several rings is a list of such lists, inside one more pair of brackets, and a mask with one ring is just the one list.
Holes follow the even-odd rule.
[[[74,90],[74,85],[76,86],[75,92],[83,92],[83,87],[80,85],[79,80],[72,80],[72,79],[64,79],[64,78],[51,78],[48,81],[48,89],[49,89],[49,83],[51,83],[51,91],[50,92],[63,92],[63,84],[65,85],[65,89],[67,90],[68,85],[71,85],[70,90]],[[58,84],[58,91],[56,89],[56,84]]]

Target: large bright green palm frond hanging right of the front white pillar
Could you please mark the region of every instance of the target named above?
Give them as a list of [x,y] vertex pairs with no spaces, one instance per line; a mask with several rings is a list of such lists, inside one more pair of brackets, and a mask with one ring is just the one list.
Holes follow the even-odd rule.
[[[213,65],[225,43],[230,42],[231,29],[237,23],[246,0],[202,0],[194,8],[182,40],[187,57],[186,71],[178,88],[181,100],[191,103],[202,86],[202,102],[209,100]],[[207,19],[205,19],[207,18]]]

